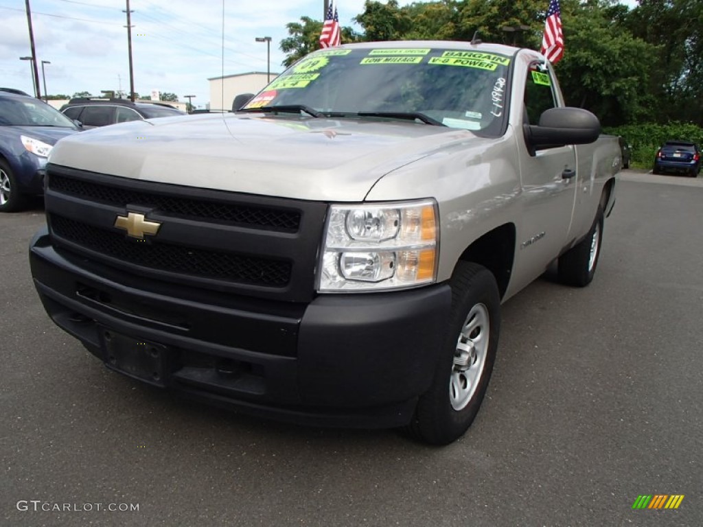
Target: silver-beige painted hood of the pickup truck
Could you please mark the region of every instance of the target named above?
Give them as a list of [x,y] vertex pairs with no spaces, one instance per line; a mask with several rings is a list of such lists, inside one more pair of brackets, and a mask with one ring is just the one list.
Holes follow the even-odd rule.
[[362,201],[385,174],[472,132],[292,115],[134,121],[64,138],[49,162],[125,178],[321,201]]

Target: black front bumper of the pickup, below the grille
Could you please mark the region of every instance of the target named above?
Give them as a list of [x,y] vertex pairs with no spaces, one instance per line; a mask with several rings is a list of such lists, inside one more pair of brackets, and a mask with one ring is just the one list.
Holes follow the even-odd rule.
[[111,335],[148,343],[162,350],[153,384],[304,424],[407,424],[451,304],[447,285],[309,303],[196,289],[57,251],[46,230],[30,263],[49,316],[108,366]]

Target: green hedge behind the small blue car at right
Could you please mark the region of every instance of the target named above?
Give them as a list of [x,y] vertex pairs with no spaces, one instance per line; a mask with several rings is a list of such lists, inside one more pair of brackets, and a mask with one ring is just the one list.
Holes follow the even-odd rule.
[[603,131],[614,136],[623,136],[631,146],[631,167],[651,169],[654,155],[665,141],[680,139],[693,141],[703,147],[703,127],[695,124],[670,122],[669,124],[627,124],[610,126]]

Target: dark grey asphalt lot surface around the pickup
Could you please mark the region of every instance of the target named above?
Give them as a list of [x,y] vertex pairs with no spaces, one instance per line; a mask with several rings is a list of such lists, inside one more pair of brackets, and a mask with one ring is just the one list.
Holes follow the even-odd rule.
[[[0,524],[703,525],[702,207],[703,177],[625,171],[594,282],[547,273],[503,306],[484,406],[445,448],[234,415],[108,371],[34,292],[41,208],[2,215]],[[676,510],[632,508],[674,494]]]

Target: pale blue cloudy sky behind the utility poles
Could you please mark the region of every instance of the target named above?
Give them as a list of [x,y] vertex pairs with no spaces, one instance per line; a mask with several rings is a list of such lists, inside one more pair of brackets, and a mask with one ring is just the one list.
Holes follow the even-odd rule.
[[[352,25],[363,4],[337,1],[342,25]],[[51,62],[44,66],[50,94],[129,91],[126,0],[30,0],[30,6],[37,60]],[[207,79],[266,71],[266,44],[255,37],[271,37],[271,72],[280,72],[285,25],[301,16],[323,18],[321,0],[224,0],[223,60],[223,0],[130,0],[130,8],[134,90],[167,91],[181,100],[195,95],[198,107],[209,102]],[[0,20],[0,86],[32,93],[30,61],[20,60],[32,54],[25,1],[0,0]]]

